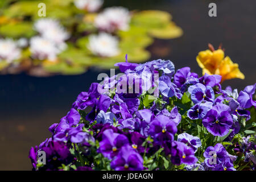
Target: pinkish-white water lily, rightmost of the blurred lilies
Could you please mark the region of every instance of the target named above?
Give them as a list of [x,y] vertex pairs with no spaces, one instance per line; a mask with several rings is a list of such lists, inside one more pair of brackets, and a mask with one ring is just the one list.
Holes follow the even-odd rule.
[[109,7],[96,17],[94,24],[100,30],[113,32],[126,31],[129,28],[129,22],[129,10],[123,7]]

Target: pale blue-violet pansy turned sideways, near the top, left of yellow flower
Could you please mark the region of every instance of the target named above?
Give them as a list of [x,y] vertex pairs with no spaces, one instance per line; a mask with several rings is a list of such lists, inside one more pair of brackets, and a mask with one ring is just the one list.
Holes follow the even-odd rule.
[[164,75],[159,78],[159,90],[165,97],[177,97],[181,98],[182,94],[179,93],[177,86],[171,82],[170,77]]

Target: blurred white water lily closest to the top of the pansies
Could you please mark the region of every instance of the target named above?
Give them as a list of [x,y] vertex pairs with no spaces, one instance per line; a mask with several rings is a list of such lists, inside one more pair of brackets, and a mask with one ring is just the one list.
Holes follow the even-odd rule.
[[88,49],[95,55],[112,57],[119,54],[118,39],[115,36],[101,32],[99,35],[89,36]]

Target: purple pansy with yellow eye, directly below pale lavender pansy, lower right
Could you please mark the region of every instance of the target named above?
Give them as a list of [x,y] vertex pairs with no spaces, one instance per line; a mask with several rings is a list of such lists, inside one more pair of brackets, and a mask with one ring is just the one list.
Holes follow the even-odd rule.
[[171,162],[175,165],[187,164],[192,165],[197,162],[195,152],[182,142],[174,141],[171,147]]

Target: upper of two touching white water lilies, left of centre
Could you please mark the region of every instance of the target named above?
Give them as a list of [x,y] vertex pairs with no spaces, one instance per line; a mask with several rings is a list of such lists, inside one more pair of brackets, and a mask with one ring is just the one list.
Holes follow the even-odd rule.
[[39,19],[34,24],[35,30],[40,33],[43,38],[49,39],[56,44],[63,44],[69,38],[68,32],[61,24],[50,18]]

